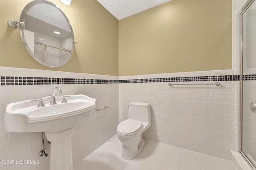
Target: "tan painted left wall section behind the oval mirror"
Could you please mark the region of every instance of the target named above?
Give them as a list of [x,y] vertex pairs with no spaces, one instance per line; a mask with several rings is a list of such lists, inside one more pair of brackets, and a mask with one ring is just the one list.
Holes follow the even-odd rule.
[[0,0],[0,66],[118,75],[118,20],[96,0],[73,0],[66,6],[48,0],[62,9],[74,30],[74,54],[62,67],[50,68],[36,62],[26,51],[19,29],[8,20],[19,20],[32,0]]

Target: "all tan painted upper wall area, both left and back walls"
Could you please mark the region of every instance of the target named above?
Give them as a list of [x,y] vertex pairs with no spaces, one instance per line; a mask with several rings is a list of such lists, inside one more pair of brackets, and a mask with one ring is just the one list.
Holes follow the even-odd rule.
[[37,63],[19,30],[7,25],[31,1],[0,0],[0,66],[102,75],[119,69],[120,76],[232,68],[231,0],[172,0],[120,20],[119,28],[96,0],[49,0],[64,11],[78,42],[58,68]]

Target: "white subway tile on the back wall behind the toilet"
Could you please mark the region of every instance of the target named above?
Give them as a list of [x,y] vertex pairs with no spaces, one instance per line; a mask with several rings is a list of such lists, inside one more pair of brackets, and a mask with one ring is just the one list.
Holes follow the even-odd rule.
[[[225,71],[220,73],[223,74]],[[228,73],[230,71],[227,71]],[[216,75],[217,71],[202,71],[201,75],[199,72],[192,74]],[[170,77],[177,75],[191,76],[184,73],[169,74]],[[138,77],[119,77],[120,80],[123,78]],[[140,78],[145,77],[142,75]],[[130,102],[150,103],[152,125],[144,132],[144,138],[231,160],[230,150],[238,150],[239,145],[239,81],[219,83],[220,86],[171,87],[167,82],[120,83],[119,122],[128,118],[127,106]]]

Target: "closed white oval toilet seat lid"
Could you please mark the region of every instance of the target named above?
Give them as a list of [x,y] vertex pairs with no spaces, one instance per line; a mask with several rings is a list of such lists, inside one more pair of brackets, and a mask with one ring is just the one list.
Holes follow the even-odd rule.
[[126,119],[121,123],[119,123],[116,129],[122,135],[132,135],[138,132],[141,128],[142,128],[141,121]]

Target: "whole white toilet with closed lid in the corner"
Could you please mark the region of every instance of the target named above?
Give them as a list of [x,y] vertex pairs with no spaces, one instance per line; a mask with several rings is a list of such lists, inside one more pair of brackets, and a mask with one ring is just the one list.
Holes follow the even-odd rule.
[[119,123],[116,134],[122,142],[121,157],[132,160],[144,145],[142,132],[151,126],[151,112],[149,103],[132,102],[128,107],[128,119]]

